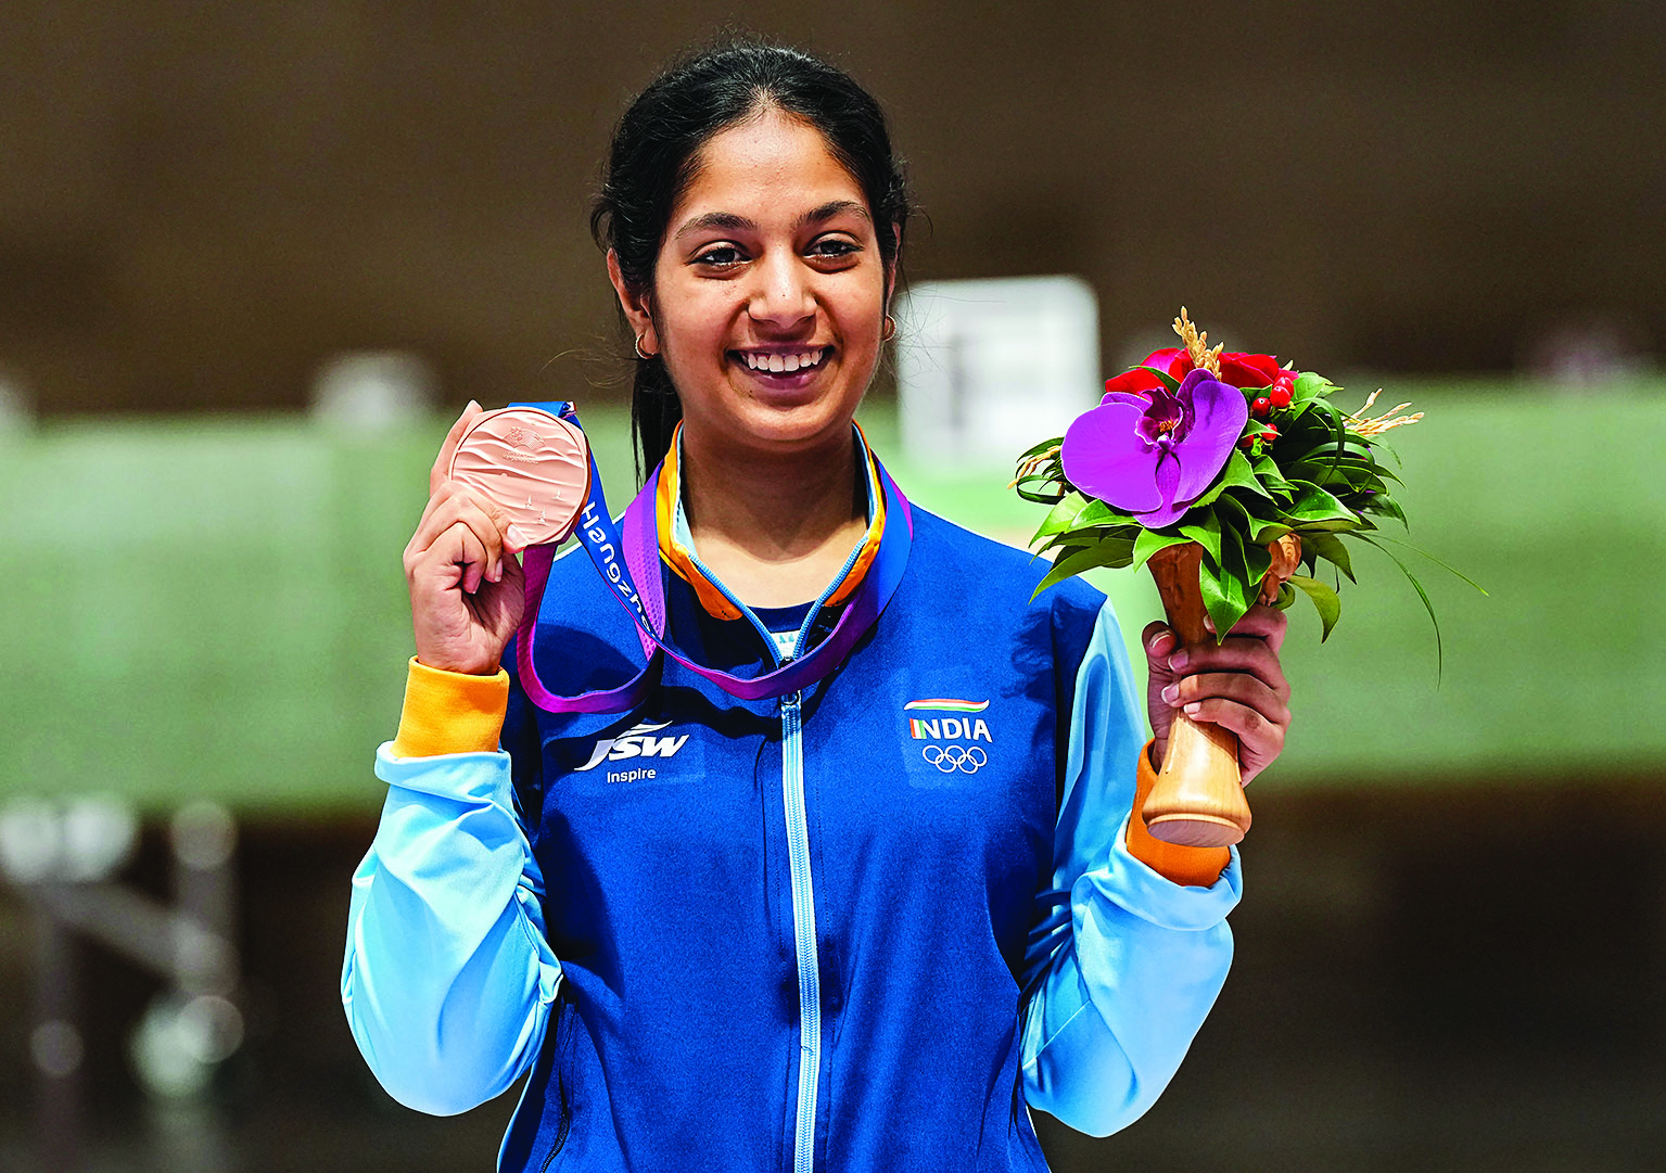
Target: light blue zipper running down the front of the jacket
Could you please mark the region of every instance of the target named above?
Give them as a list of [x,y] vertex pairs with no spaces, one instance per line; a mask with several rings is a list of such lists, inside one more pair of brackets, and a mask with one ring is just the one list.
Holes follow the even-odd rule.
[[793,1130],[793,1173],[813,1173],[816,1086],[821,1078],[821,971],[816,961],[816,901],[805,818],[801,700],[801,693],[781,696],[781,800],[786,806],[786,858],[793,880],[793,940],[798,953],[798,1121]]

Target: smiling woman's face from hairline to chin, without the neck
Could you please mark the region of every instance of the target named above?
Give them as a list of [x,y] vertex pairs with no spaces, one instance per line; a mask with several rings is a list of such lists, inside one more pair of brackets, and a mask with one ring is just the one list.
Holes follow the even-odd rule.
[[676,385],[685,443],[738,455],[846,445],[890,293],[861,187],[818,130],[775,110],[715,135],[698,163],[653,292],[620,292]]

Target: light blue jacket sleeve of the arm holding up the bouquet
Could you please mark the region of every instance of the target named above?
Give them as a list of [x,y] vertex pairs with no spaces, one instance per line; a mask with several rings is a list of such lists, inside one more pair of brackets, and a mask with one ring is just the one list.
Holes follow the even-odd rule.
[[1025,1098],[1078,1131],[1138,1120],[1180,1066],[1231,963],[1238,851],[1210,888],[1183,888],[1128,853],[1145,745],[1111,605],[1076,675],[1053,850],[1051,908],[1025,955]]

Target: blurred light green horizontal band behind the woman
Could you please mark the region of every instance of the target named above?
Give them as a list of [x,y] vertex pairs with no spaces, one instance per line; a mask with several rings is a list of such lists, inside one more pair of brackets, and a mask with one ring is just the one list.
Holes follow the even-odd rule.
[[[1398,383],[1396,390],[1403,390]],[[1666,570],[1659,388],[1549,397],[1518,385],[1414,387],[1429,418],[1404,458],[1408,553],[1434,596],[1361,550],[1319,648],[1293,611],[1296,726],[1258,786],[1634,776],[1666,766]],[[898,453],[890,405],[865,410]],[[626,420],[590,408],[608,497],[628,498]],[[0,798],[112,791],[242,813],[380,803],[373,746],[410,653],[400,550],[445,422],[375,440],[300,418],[50,425],[0,447]],[[1015,448],[1025,447],[1015,438]],[[933,512],[1020,543],[1040,508],[1005,470],[888,462]],[[1141,577],[1096,577],[1130,635],[1156,615]],[[1140,663],[1135,651],[1136,666]]]

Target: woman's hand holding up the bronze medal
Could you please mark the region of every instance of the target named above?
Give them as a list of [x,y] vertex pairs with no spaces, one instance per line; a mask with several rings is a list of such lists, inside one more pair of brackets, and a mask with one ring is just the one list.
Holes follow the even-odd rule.
[[451,453],[481,415],[470,402],[428,473],[428,508],[405,547],[416,658],[430,668],[496,673],[503,645],[525,606],[518,552],[505,538],[508,518],[491,502],[446,478]]

